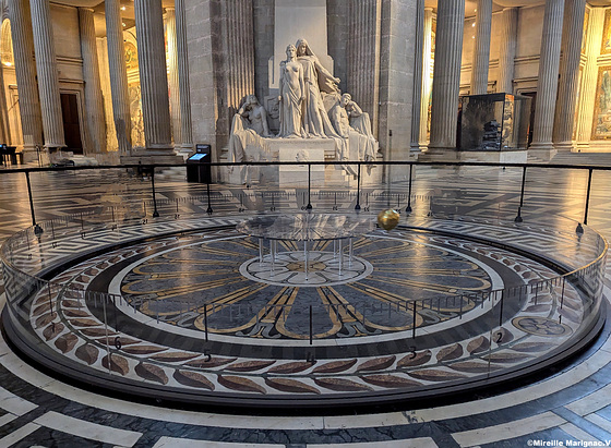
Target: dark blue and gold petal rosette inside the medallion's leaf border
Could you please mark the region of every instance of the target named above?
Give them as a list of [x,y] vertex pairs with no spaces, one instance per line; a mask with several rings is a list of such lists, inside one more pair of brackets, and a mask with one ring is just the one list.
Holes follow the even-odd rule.
[[310,328],[313,339],[379,335],[414,328],[415,314],[416,325],[423,326],[474,310],[477,301],[462,294],[491,289],[483,265],[419,240],[357,240],[359,256],[346,261],[348,278],[325,252],[333,243],[319,242],[309,262],[310,275],[322,283],[318,288],[299,286],[303,259],[292,242],[283,243],[272,279],[269,262],[253,258],[257,246],[249,238],[177,244],[135,262],[120,293],[140,313],[178,327],[255,338],[309,339]]

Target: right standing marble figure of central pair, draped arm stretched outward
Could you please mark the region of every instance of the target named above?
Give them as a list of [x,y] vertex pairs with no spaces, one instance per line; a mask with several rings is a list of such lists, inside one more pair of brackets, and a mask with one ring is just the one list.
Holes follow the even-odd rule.
[[336,94],[338,77],[321,64],[306,39],[297,40],[297,60],[303,68],[303,129],[310,137],[337,137],[323,104],[322,93]]

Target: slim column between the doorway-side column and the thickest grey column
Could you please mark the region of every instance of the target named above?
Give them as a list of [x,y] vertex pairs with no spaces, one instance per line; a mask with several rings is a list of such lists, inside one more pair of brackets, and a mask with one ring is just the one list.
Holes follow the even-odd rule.
[[106,38],[108,44],[108,68],[112,92],[112,116],[119,152],[127,154],[132,149],[132,120],[128,94],[128,68],[123,45],[123,25],[119,0],[105,0]]

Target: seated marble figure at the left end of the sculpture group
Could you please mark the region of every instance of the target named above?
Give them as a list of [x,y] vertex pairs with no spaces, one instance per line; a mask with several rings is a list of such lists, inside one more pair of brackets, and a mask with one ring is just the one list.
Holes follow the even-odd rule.
[[[229,161],[243,162],[256,161],[265,159],[263,153],[267,147],[265,137],[271,137],[267,126],[267,112],[265,108],[259,104],[256,96],[247,96],[245,101],[233,116],[231,121],[231,133],[229,134]],[[256,154],[249,148],[257,148]],[[250,153],[250,154],[249,154]],[[233,167],[229,168],[229,172],[233,171]],[[243,184],[250,183],[249,167],[242,166],[240,170],[240,180]]]

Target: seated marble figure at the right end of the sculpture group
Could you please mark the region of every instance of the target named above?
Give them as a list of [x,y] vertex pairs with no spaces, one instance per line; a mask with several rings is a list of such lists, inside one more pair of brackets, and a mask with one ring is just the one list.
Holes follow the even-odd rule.
[[[379,144],[371,133],[369,114],[352,101],[350,94],[342,98],[330,111],[337,133],[345,138],[348,160],[372,162],[375,160]],[[371,166],[368,166],[368,170]]]

